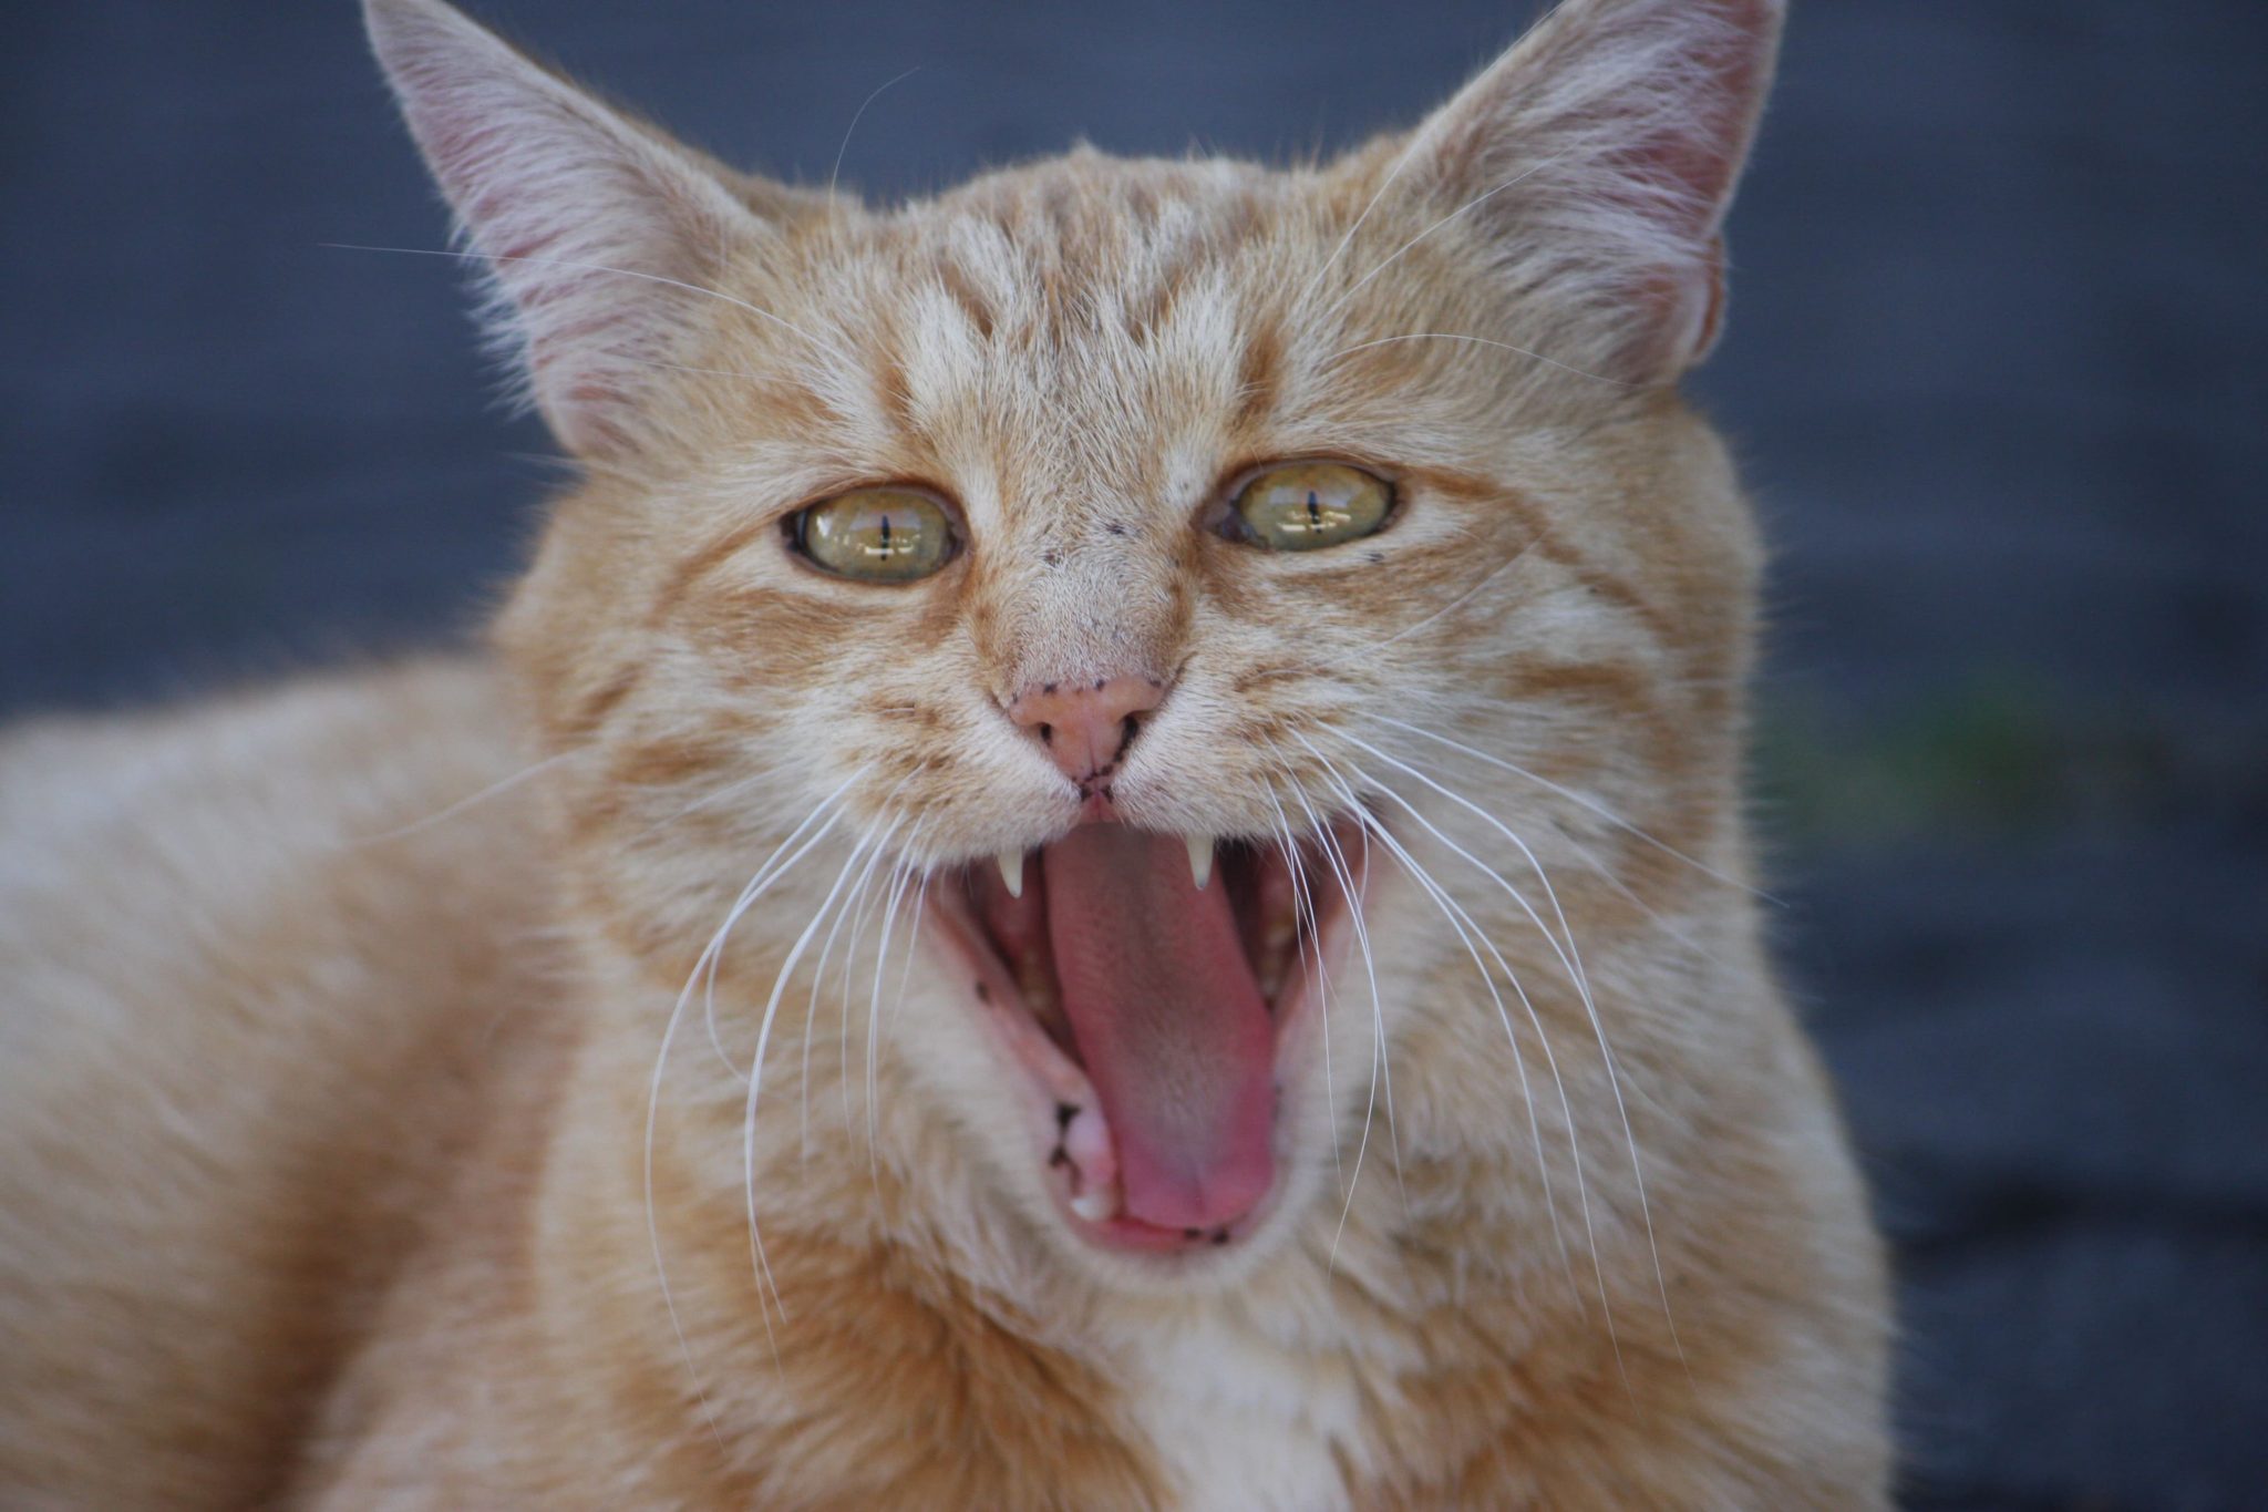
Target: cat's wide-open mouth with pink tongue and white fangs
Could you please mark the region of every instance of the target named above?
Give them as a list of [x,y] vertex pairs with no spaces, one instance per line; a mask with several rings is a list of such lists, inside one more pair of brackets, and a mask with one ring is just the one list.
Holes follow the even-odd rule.
[[1084,1238],[1170,1254],[1261,1220],[1288,1031],[1361,889],[1343,827],[1327,850],[1084,823],[946,889],[946,934],[1032,1084],[1034,1156]]

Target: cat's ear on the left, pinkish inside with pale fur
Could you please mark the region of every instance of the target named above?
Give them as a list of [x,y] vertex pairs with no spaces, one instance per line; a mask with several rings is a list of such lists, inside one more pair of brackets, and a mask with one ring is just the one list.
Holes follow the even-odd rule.
[[574,453],[626,447],[701,288],[764,222],[723,168],[442,0],[367,0],[365,14],[535,408]]

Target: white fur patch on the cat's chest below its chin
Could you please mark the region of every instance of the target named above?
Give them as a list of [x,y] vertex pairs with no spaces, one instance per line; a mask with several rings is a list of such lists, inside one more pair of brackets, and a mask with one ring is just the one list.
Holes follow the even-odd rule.
[[1216,1313],[1127,1340],[1123,1387],[1179,1512],[1338,1512],[1363,1453],[1349,1356]]

